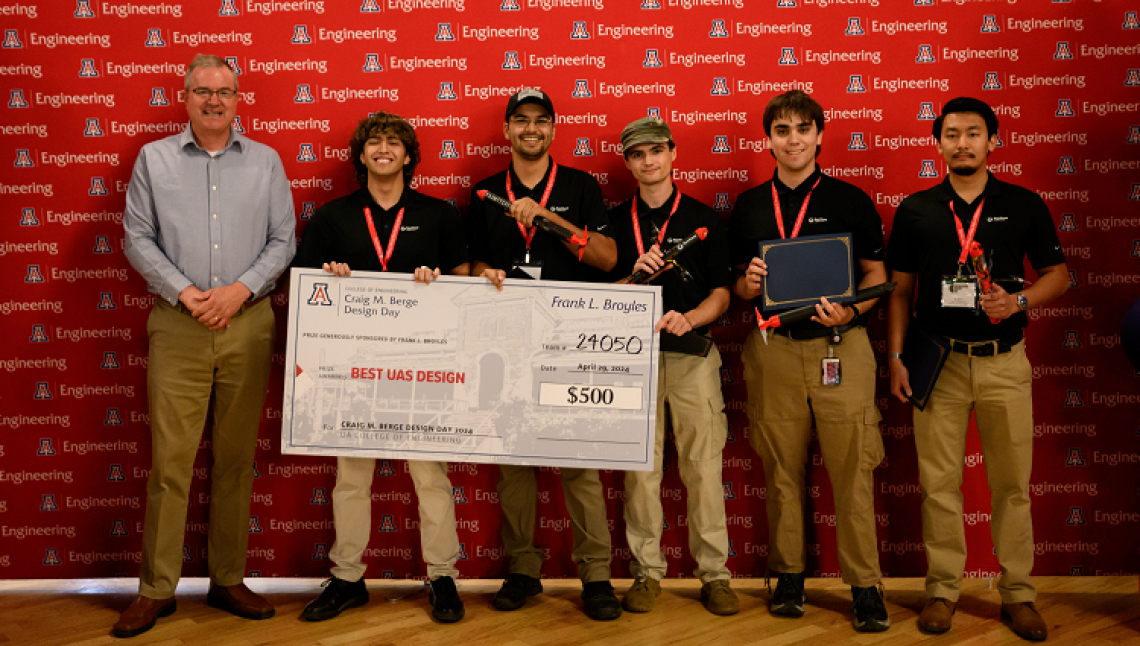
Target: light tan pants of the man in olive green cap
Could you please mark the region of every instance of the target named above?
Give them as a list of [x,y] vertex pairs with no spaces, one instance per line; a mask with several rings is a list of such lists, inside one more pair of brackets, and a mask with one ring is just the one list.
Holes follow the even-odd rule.
[[720,353],[708,357],[662,352],[657,379],[657,441],[653,471],[626,472],[626,539],[634,577],[660,581],[668,563],[661,554],[661,460],[665,452],[666,410],[673,423],[681,481],[689,506],[689,553],[697,562],[693,574],[701,582],[730,579],[728,530],[724,515],[720,453],[728,423],[720,393]]

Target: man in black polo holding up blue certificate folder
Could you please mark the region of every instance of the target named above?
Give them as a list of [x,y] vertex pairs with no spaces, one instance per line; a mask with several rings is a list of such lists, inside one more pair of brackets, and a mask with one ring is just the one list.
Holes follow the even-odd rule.
[[[738,270],[733,291],[760,311],[763,278],[779,267],[757,257],[759,243],[798,235],[852,234],[860,288],[886,281],[882,223],[860,188],[823,174],[815,163],[823,140],[823,108],[799,90],[764,111],[776,171],[740,195],[728,238]],[[748,383],[749,439],[764,461],[768,512],[768,572],[777,577],[769,610],[804,614],[804,475],[812,422],[836,502],[836,534],[844,582],[852,587],[855,628],[890,627],[883,605],[874,520],[872,469],[882,460],[881,416],[874,402],[876,363],[866,312],[873,301],[842,306],[824,300],[809,321],[754,329],[742,360]],[[824,385],[824,362],[841,366]]]

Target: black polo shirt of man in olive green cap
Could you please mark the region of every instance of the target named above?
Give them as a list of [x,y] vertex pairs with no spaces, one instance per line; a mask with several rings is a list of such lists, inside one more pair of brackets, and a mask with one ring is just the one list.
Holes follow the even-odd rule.
[[[662,287],[665,311],[685,313],[697,308],[708,299],[709,293],[717,287],[732,284],[732,265],[728,264],[728,237],[724,223],[716,211],[712,211],[698,199],[682,194],[677,212],[669,218],[677,187],[674,186],[669,199],[658,208],[650,208],[637,193],[637,221],[641,226],[642,244],[649,251],[657,243],[656,231],[665,227],[663,250],[676,245],[697,229],[705,227],[708,237],[689,247],[677,257],[677,263],[684,267],[693,279],[684,281],[674,271],[667,271],[653,279],[650,285]],[[618,243],[618,264],[611,272],[611,280],[620,280],[634,271],[637,262],[637,242],[634,234],[633,199],[622,202],[610,210],[610,226],[613,228],[613,239]],[[654,228],[656,227],[656,228]]]

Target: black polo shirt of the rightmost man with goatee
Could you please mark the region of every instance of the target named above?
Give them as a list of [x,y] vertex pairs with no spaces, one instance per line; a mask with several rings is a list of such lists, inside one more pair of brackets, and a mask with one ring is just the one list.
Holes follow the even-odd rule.
[[904,199],[891,224],[887,267],[915,275],[914,316],[927,329],[961,341],[1017,341],[1021,338],[1021,328],[1028,325],[1025,312],[992,324],[980,310],[975,314],[961,308],[942,306],[943,277],[956,275],[962,248],[950,202],[954,201],[962,231],[969,232],[974,212],[983,198],[986,202],[974,239],[993,261],[990,275],[1007,292],[1021,291],[1020,283],[1010,278],[1025,277],[1026,256],[1035,270],[1065,262],[1057,227],[1041,196],[991,173],[985,190],[972,204],[954,193],[948,177]]

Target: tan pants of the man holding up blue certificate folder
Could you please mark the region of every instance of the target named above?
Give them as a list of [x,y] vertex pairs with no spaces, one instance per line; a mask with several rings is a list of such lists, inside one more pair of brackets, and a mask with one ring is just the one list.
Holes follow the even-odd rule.
[[[829,346],[839,358],[838,386],[821,385]],[[831,346],[826,337],[792,341],[754,329],[742,355],[748,382],[749,441],[764,461],[768,571],[806,569],[804,476],[812,419],[836,501],[836,539],[844,582],[866,588],[882,578],[874,520],[874,475],[882,461],[882,416],[874,403],[874,352],[857,327]]]

